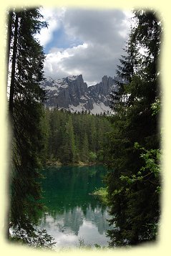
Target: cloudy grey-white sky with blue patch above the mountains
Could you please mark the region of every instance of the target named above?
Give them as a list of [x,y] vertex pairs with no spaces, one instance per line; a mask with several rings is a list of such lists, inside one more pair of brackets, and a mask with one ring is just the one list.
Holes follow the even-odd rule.
[[114,77],[130,29],[129,11],[116,9],[41,9],[48,29],[41,29],[45,77],[83,75],[94,85]]

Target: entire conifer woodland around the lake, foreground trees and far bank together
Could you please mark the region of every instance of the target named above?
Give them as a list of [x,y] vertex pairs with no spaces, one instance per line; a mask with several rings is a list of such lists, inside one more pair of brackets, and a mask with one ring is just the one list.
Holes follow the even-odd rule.
[[[13,239],[52,247],[36,230],[41,166],[107,164],[109,246],[156,240],[160,224],[160,48],[162,24],[154,11],[134,11],[135,22],[120,58],[111,93],[114,115],[44,108],[44,52],[35,35],[46,22],[39,8],[9,11],[6,44],[11,139],[9,228]],[[143,51],[142,51],[143,49]],[[38,239],[41,237],[41,243]]]

